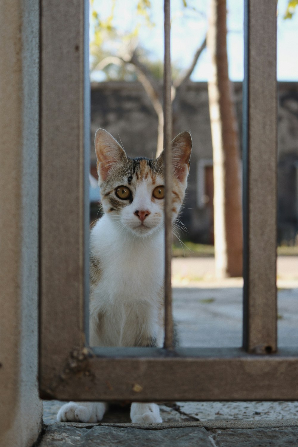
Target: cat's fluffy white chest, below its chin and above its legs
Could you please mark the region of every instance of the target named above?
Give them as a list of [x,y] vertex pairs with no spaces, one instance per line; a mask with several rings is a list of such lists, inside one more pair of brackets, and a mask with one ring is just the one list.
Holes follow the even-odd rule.
[[103,216],[92,232],[92,250],[102,271],[96,299],[105,304],[154,302],[164,280],[162,236],[122,238]]

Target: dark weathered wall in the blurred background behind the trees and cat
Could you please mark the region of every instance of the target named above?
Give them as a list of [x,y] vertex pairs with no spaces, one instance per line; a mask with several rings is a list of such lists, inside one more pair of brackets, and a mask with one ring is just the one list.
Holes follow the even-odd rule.
[[[241,142],[241,83],[234,83],[234,92]],[[298,231],[298,83],[279,83],[278,98],[278,232],[280,242],[283,240],[293,242]],[[204,184],[199,178],[200,163],[208,164],[208,160],[212,159],[207,84],[190,82],[185,95],[174,105],[173,112],[173,134],[188,130],[193,138],[189,187],[182,220],[189,230],[191,239],[210,242],[212,212],[210,203],[204,205],[201,200],[201,196],[204,196]],[[98,127],[104,127],[116,139],[121,140],[129,156],[155,155],[157,116],[138,82],[92,84],[91,164],[93,166],[96,163],[93,141]]]

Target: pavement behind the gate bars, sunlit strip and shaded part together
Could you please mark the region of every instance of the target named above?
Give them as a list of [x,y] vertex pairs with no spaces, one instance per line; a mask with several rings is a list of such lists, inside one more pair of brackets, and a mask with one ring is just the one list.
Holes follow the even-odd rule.
[[[172,260],[173,314],[180,346],[242,345],[243,279],[215,280],[214,257]],[[298,343],[298,257],[277,258],[279,346]]]

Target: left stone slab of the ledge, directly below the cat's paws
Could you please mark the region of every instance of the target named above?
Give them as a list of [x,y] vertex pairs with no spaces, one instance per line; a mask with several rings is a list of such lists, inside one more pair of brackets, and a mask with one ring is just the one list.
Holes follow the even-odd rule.
[[[69,426],[55,423],[45,426],[39,447],[214,447],[203,427],[163,428],[159,424],[146,428],[115,426]],[[150,427],[151,426],[151,427]]]

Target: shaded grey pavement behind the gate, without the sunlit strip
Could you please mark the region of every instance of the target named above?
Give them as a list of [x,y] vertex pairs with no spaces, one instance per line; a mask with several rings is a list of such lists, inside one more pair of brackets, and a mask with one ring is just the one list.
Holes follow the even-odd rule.
[[[173,315],[180,346],[241,346],[242,295],[242,287],[219,288],[214,284],[208,288],[192,287],[192,283],[174,288]],[[278,290],[277,311],[279,346],[297,346],[298,288]]]

